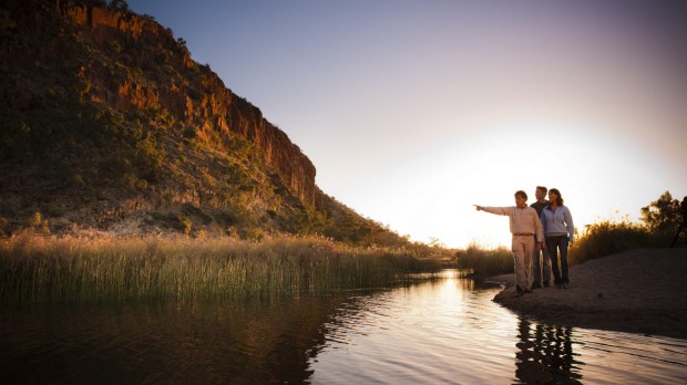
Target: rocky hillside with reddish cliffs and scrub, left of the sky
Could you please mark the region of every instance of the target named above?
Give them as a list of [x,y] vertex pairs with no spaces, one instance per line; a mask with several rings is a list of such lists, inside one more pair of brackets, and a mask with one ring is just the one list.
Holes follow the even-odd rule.
[[315,184],[260,110],[150,15],[101,1],[0,6],[0,231],[320,233],[408,240]]

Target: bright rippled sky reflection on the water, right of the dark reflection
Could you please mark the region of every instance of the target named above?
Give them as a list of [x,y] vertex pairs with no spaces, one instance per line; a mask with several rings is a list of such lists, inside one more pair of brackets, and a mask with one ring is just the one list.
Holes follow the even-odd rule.
[[687,379],[687,341],[539,324],[493,303],[498,291],[498,287],[448,274],[439,281],[360,296],[355,310],[339,313],[326,325],[326,343],[311,361],[310,381],[616,384]]

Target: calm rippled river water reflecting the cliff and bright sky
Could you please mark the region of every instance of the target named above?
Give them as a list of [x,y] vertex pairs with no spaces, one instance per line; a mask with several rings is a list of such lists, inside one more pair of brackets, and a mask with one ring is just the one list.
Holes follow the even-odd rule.
[[687,383],[687,341],[521,319],[445,271],[324,298],[7,310],[2,384]]

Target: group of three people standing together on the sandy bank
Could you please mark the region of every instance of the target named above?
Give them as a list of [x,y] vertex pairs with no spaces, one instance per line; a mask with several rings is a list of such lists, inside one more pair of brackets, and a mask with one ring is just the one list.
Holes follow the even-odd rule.
[[[545,199],[546,192],[548,200]],[[535,197],[536,201],[527,206],[527,194],[519,190],[515,191],[514,207],[475,205],[478,211],[507,216],[511,220],[517,295],[531,293],[532,289],[547,288],[552,271],[557,289],[565,289],[570,283],[567,248],[575,240],[573,216],[567,206],[563,205],[558,189],[547,190],[546,187],[537,186]]]

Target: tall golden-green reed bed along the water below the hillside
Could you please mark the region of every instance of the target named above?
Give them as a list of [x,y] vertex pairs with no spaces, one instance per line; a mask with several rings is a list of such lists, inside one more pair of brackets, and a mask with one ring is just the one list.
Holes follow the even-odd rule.
[[0,240],[2,303],[240,298],[384,285],[437,259],[322,238],[44,238]]

